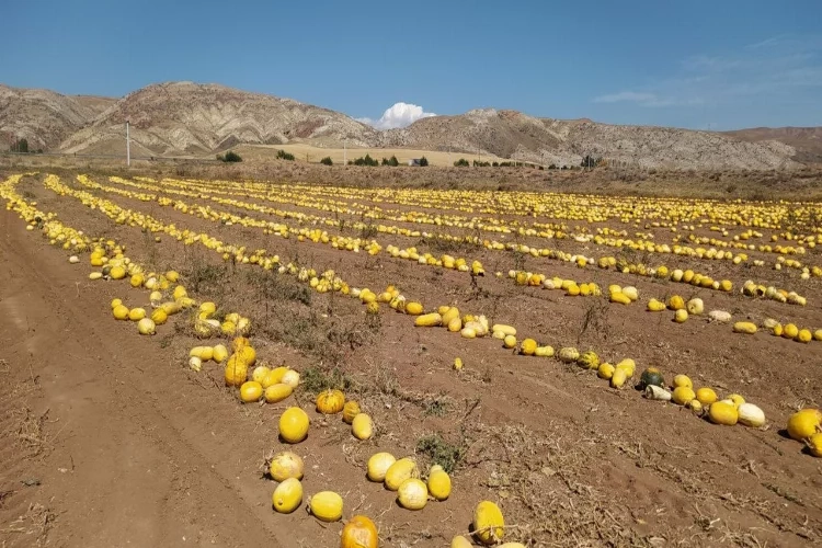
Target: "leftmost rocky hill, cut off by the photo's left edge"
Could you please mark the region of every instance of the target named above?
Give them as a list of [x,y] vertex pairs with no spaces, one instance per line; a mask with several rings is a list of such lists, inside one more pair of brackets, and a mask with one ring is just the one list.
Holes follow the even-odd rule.
[[0,147],[5,148],[14,139],[26,139],[32,150],[55,148],[114,102],[107,98],[62,95],[0,83]]

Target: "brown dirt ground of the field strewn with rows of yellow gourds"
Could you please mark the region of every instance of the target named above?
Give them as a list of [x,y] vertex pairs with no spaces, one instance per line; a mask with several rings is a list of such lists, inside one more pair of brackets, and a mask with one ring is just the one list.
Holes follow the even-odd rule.
[[[545,203],[534,198],[540,207],[560,204],[537,214],[522,208],[527,201],[516,205],[522,196],[514,192],[425,195],[419,189],[400,191],[399,183],[353,186],[364,170],[329,171],[333,178],[354,175],[346,187],[192,181],[192,173],[169,171],[171,178],[160,182],[147,170],[56,170],[58,186],[45,169],[22,178],[14,192],[90,238],[116,240],[147,271],[179,271],[195,300],[213,300],[222,312],[251,318],[258,359],[300,372],[301,386],[279,403],[241,403],[237,389],[225,386],[221,365],[208,362],[201,372],[187,366],[192,346],[228,343],[230,338],[197,339],[192,316],[184,312],[159,326],[157,335],[139,336],[133,322],[112,317],[110,302],[121,298],[129,307],[150,309],[145,287],[132,287],[128,278],[89,279],[100,269],[89,265],[88,251],[49,246],[42,230],[26,230],[15,212],[3,208],[0,546],[338,546],[342,524],[319,522],[305,510],[308,496],[323,490],[343,496],[344,520],[369,516],[379,528],[380,546],[387,547],[448,546],[455,535],[468,535],[481,500],[502,509],[506,540],[533,547],[792,547],[822,541],[822,459],[784,432],[796,409],[822,406],[822,341],[801,344],[763,328],[753,335],[734,333],[730,324],[706,316],[676,323],[670,310],[646,309],[652,297],[698,296],[706,311],[729,311],[733,321],[761,324],[775,318],[815,330],[822,328],[822,277],[802,279],[800,270],[789,266],[774,270],[778,254],[757,249],[746,250],[749,260],[734,264],[574,238],[480,231],[477,220],[468,226],[476,217],[509,227],[562,226],[560,232],[576,236],[608,228],[625,230],[624,238],[672,246],[670,227],[650,225],[665,220],[650,216],[654,207],[670,210],[662,201],[589,196],[584,207],[610,212],[589,222],[566,215],[571,206],[560,196]],[[22,172],[0,169],[0,181]],[[88,183],[77,178],[81,173],[90,173]],[[512,190],[528,182],[514,172],[510,176],[505,184]],[[795,190],[784,189],[806,183],[814,189],[801,179],[769,189],[794,197]],[[631,189],[623,187],[623,193]],[[494,213],[465,210],[483,201]],[[615,213],[620,204],[646,217],[620,220]],[[685,209],[705,204],[688,203]],[[757,246],[797,247],[799,235],[822,235],[818,205],[756,207],[781,222],[757,227],[763,233],[754,238]],[[790,216],[790,210],[799,213]],[[146,221],[145,215],[156,222],[148,224],[151,228],[138,224]],[[447,222],[434,222],[437,215]],[[694,230],[683,233],[730,244],[756,215],[742,217],[724,225],[728,237],[710,230],[712,222],[675,225],[693,224]],[[294,231],[284,239],[274,224]],[[376,225],[393,231],[379,231]],[[186,229],[178,241],[173,230]],[[306,235],[313,229],[363,246],[376,240],[381,249],[374,255],[335,249],[311,241]],[[305,233],[298,237],[300,230]],[[767,424],[711,424],[684,407],[643,399],[632,388],[610,388],[596,372],[553,357],[518,355],[490,336],[464,339],[443,328],[414,328],[412,317],[387,304],[368,315],[358,299],[318,293],[298,276],[225,261],[192,233],[207,233],[225,247],[243,246],[241,254],[264,249],[255,253],[276,254],[278,264],[313,267],[318,275],[332,269],[351,287],[380,293],[392,284],[426,311],[450,305],[486,315],[491,323],[515,326],[517,339],[530,336],[557,352],[575,346],[594,349],[612,363],[633,358],[631,385],[648,366],[659,367],[667,384],[685,374],[695,388],[711,386],[720,397],[741,393],[764,410]],[[465,240],[477,233],[479,244]],[[778,242],[770,242],[772,235]],[[596,265],[580,269],[568,261],[489,249],[483,239],[693,269],[731,281],[734,290]],[[388,246],[463,256],[469,265],[478,260],[486,275],[393,258]],[[230,254],[236,252],[232,248]],[[80,262],[70,264],[70,254]],[[785,256],[809,267],[822,265],[818,248]],[[753,266],[754,260],[765,265]],[[595,282],[604,295],[571,297],[517,286],[509,270]],[[498,271],[501,277],[494,275]],[[746,279],[795,290],[808,304],[743,296]],[[636,286],[639,300],[609,302],[609,284]],[[457,356],[465,362],[461,372],[452,367]],[[326,387],[344,388],[361,402],[376,426],[370,439],[354,438],[339,415],[316,412],[315,395]],[[278,418],[290,406],[311,419],[308,438],[295,446],[277,438]],[[271,506],[276,483],[263,471],[266,456],[286,448],[305,460],[305,496],[297,512],[282,515]],[[432,463],[453,468],[450,498],[429,502],[421,511],[403,510],[395,493],[365,478],[365,463],[378,450],[413,455],[423,476]]]

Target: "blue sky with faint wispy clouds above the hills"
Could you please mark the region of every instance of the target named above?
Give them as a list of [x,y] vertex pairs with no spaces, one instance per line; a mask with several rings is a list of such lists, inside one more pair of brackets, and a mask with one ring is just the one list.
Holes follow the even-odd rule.
[[[9,2],[0,82],[218,82],[397,125],[514,109],[697,129],[822,125],[822,0]],[[389,113],[390,114],[390,113]]]

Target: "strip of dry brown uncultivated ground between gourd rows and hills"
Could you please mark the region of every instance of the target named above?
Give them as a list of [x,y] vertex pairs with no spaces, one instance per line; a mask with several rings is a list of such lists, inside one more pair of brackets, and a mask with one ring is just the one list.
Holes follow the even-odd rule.
[[[381,157],[385,155],[380,155]],[[770,171],[535,170],[529,168],[398,168],[321,165],[255,158],[241,163],[199,160],[135,161],[132,169],[122,159],[83,159],[39,155],[0,155],[0,170],[11,173],[54,171],[67,176],[78,172],[153,178],[206,180],[260,180],[308,182],[318,185],[357,185],[414,189],[467,189],[491,191],[564,192],[616,196],[662,196],[712,199],[822,201],[822,168]],[[65,170],[65,171],[64,171]]]

